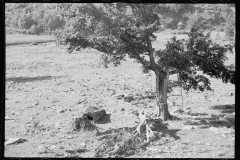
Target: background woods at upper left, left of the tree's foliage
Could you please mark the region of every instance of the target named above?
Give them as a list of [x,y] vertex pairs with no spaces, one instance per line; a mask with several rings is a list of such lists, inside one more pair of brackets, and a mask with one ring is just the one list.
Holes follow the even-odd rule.
[[8,34],[53,34],[65,21],[55,3],[6,3],[5,27]]

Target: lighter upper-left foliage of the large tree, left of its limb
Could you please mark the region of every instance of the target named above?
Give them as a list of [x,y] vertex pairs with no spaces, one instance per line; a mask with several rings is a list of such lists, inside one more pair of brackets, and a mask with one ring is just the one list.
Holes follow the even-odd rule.
[[[153,5],[142,4],[134,6],[132,12],[138,15],[134,17],[131,14],[126,15],[128,8],[124,3],[116,5],[74,4],[70,5],[67,11],[60,6],[63,8],[63,17],[71,18],[71,21],[67,21],[65,44],[71,46],[70,52],[79,47],[92,47],[111,54],[116,65],[125,58],[126,54],[129,54],[131,58],[138,57],[138,60],[144,61],[139,56],[139,52],[147,52],[144,36],[153,36],[151,32],[145,32],[147,29],[144,25],[151,26],[154,19],[156,22],[153,24],[156,25],[159,19],[156,15],[148,13],[153,7]],[[140,25],[142,27],[139,27]],[[157,30],[154,27],[151,29]]]

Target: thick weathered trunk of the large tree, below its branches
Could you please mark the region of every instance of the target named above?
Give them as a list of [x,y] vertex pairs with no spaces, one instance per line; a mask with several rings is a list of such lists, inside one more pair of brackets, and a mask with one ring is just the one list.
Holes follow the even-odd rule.
[[168,68],[164,68],[161,72],[159,70],[155,71],[156,74],[156,104],[158,110],[158,116],[166,121],[170,118],[167,105],[167,87],[169,79]]

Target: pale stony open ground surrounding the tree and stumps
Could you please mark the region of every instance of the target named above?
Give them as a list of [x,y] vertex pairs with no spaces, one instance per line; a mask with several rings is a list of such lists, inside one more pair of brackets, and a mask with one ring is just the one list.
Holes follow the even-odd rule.
[[[98,141],[87,140],[95,133],[72,132],[74,116],[88,106],[105,109],[111,121],[97,124],[104,134],[136,127],[134,111],[154,111],[154,99],[144,98],[154,93],[153,73],[142,74],[132,60],[107,69],[98,61],[99,53],[88,49],[66,54],[51,44],[6,48],[5,137],[27,140],[7,145],[6,157],[66,157],[73,154],[67,150],[81,145],[86,151],[77,155],[93,157]],[[234,158],[235,86],[211,82],[214,92],[184,92],[184,108],[181,97],[174,96],[180,89],[174,89],[169,101],[175,105],[170,104],[169,110],[180,120],[151,126],[160,138],[125,157]],[[124,84],[125,92],[134,96],[131,103],[116,98],[124,94]],[[179,109],[184,112],[178,113]]]

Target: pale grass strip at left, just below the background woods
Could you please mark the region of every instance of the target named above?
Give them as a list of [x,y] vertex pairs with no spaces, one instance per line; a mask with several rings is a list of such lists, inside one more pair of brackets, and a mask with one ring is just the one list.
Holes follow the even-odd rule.
[[6,46],[54,41],[54,36],[50,35],[6,34]]

